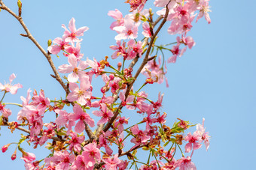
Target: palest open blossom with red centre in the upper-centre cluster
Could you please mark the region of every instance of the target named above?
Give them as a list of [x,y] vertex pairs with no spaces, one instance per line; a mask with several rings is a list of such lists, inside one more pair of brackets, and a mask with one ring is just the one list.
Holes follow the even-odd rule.
[[133,19],[128,15],[124,17],[123,26],[117,26],[113,29],[118,33],[117,36],[114,37],[115,40],[125,40],[127,38],[135,39],[138,37],[138,25],[136,25]]

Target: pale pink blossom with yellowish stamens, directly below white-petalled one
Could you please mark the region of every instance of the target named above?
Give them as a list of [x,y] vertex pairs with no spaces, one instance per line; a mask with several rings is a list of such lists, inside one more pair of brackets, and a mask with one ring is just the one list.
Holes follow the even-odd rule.
[[76,83],[71,82],[69,88],[72,91],[67,96],[70,102],[77,101],[79,104],[84,106],[87,103],[87,99],[90,99],[92,92],[90,91],[89,76],[84,75],[81,79],[80,88]]

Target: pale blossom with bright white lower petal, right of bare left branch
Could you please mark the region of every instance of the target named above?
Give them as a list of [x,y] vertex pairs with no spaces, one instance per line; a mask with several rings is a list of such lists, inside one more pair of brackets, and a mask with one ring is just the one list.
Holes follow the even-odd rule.
[[79,77],[84,76],[84,71],[82,70],[87,68],[87,63],[86,61],[81,61],[80,64],[78,65],[77,58],[73,54],[69,55],[68,61],[69,61],[69,65],[63,64],[59,66],[58,71],[59,73],[70,73],[68,76],[68,81],[77,82]]

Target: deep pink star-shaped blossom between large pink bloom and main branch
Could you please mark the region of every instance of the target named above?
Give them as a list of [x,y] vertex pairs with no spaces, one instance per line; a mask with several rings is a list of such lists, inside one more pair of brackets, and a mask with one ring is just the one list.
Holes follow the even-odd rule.
[[93,115],[102,117],[98,121],[97,125],[105,124],[109,120],[109,118],[114,115],[112,111],[107,109],[107,106],[104,103],[101,103],[100,106],[102,106],[102,111],[93,111]]

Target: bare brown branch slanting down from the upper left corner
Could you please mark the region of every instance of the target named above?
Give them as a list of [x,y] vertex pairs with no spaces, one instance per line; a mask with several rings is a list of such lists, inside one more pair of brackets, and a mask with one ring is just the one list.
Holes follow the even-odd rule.
[[[26,27],[25,23],[23,22],[22,17],[17,16],[11,9],[9,9],[7,6],[5,6],[5,4],[2,2],[2,0],[0,1],[0,4],[2,5],[1,8],[3,10],[6,10],[8,13],[11,13],[11,15],[14,16],[14,18],[16,18],[20,22],[20,25],[22,25],[23,29],[26,31],[26,36],[25,37],[28,37],[30,40],[32,40],[32,42],[35,44],[35,46],[37,46],[38,49],[43,53],[45,58],[47,58],[47,61],[50,64],[50,67],[52,68],[53,73],[56,76],[56,80],[59,82],[59,84],[62,86],[62,88],[66,91],[66,94],[69,94],[69,92],[70,92],[69,88],[64,84],[61,77],[59,76],[59,73],[57,72],[56,67],[53,64],[51,56],[47,54],[47,52],[43,49],[43,47],[41,47],[41,45],[38,43],[38,41],[35,40],[35,37],[32,36],[29,29]],[[21,35],[25,35],[25,34],[21,34]]]

